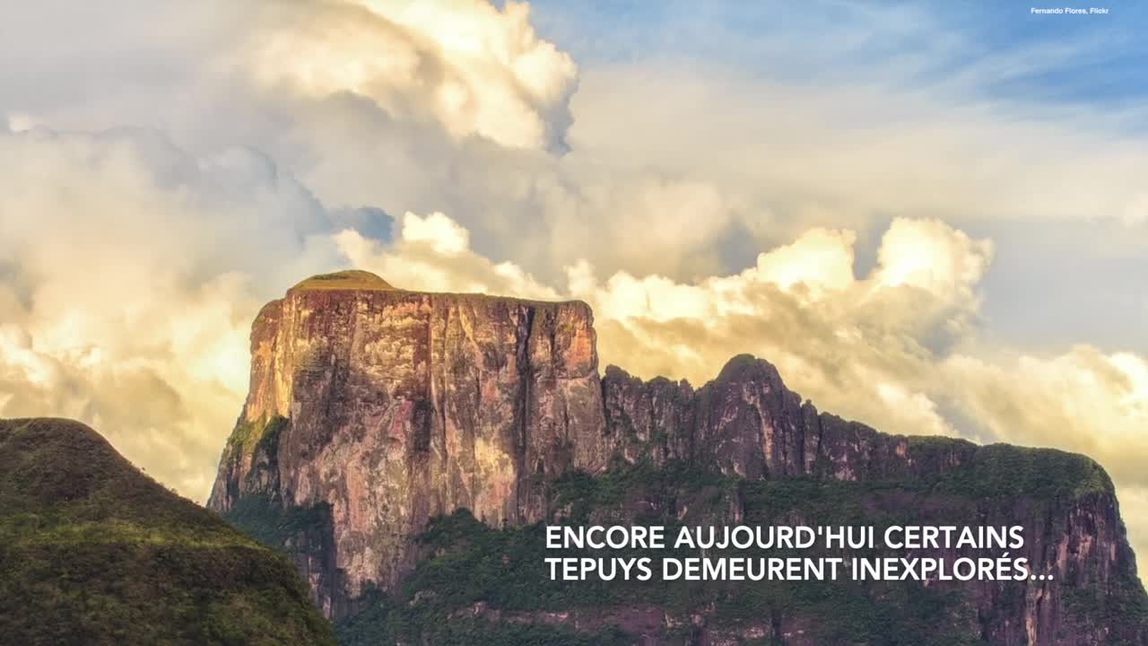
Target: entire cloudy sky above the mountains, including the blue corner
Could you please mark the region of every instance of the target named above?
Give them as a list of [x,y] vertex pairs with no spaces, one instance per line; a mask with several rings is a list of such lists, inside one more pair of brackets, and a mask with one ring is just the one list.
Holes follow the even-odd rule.
[[0,21],[0,416],[204,500],[311,274],[583,299],[884,431],[1083,452],[1148,554],[1148,9],[46,0]]

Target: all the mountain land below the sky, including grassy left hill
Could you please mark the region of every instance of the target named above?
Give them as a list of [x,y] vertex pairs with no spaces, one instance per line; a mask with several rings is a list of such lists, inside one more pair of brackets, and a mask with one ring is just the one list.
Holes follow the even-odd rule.
[[[303,280],[253,325],[207,507],[84,424],[0,421],[0,641],[1148,645],[1148,595],[1092,460],[881,433],[750,355],[697,387],[599,370],[576,301]],[[1010,557],[1033,576],[561,580],[550,524],[1019,528]]]

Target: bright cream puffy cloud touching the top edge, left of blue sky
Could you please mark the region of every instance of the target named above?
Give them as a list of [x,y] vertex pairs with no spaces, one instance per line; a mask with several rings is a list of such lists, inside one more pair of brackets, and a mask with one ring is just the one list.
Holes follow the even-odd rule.
[[541,40],[529,5],[398,0],[264,3],[249,47],[256,79],[323,98],[367,97],[456,137],[563,149],[573,59]]

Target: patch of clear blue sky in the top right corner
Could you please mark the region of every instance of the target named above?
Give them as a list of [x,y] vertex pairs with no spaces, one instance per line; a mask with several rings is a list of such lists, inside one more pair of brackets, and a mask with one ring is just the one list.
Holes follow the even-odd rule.
[[[1135,108],[1148,93],[1148,8],[1049,16],[1021,2],[561,2],[532,6],[538,31],[583,64],[649,56],[707,59],[817,83],[862,78],[928,86],[978,66],[992,98]],[[776,46],[784,43],[785,48]],[[828,54],[828,56],[827,56]],[[920,66],[903,78],[889,66]],[[817,66],[813,62],[828,62]],[[868,71],[866,71],[868,69]]]

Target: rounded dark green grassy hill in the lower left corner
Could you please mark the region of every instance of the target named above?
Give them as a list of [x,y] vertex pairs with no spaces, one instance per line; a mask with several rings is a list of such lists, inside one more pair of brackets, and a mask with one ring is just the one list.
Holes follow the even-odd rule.
[[282,555],[95,431],[0,420],[0,643],[334,644]]

